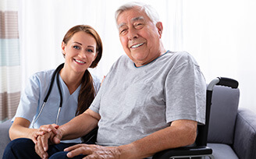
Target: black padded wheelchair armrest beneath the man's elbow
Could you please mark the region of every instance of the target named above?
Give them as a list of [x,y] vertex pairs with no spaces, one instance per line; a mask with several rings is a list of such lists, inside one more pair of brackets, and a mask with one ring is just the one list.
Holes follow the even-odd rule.
[[212,154],[210,147],[179,147],[175,149],[163,150],[156,153],[153,159],[165,159],[170,157],[190,157],[190,156],[202,156]]

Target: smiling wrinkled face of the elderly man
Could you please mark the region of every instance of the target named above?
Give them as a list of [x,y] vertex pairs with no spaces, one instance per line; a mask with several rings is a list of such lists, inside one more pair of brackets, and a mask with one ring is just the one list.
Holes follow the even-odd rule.
[[123,49],[137,67],[148,64],[161,54],[162,23],[154,24],[140,8],[123,11],[117,25]]

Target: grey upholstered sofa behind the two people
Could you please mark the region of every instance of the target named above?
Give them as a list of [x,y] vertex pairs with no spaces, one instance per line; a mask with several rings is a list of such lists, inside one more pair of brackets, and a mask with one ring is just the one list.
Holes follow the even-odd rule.
[[[208,130],[208,147],[215,159],[256,159],[256,114],[238,108],[239,89],[215,86]],[[0,124],[0,157],[9,143],[12,122]]]

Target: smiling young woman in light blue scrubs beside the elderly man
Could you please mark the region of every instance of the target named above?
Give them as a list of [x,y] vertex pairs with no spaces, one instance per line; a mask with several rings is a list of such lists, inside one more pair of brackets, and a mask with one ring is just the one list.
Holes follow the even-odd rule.
[[[87,69],[96,67],[101,59],[102,43],[98,33],[91,26],[73,26],[63,38],[62,54],[65,63],[55,76],[52,92],[43,109],[41,106],[55,70],[37,72],[30,77],[9,129],[10,139],[15,140],[12,143],[19,142],[16,140],[18,138],[26,138],[21,140],[31,142],[33,136],[43,133],[39,131],[40,126],[55,123],[57,116],[58,125],[63,125],[83,113],[94,100],[101,80],[92,76]],[[62,92],[62,108],[59,115],[60,95],[56,78],[59,78]],[[80,143],[80,138],[66,140],[65,143]]]

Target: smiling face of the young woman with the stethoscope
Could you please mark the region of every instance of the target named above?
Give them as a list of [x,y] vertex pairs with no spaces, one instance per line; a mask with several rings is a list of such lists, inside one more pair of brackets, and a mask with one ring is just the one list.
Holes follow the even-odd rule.
[[97,56],[96,47],[94,37],[84,31],[73,34],[67,44],[62,42],[62,53],[69,71],[84,73]]

